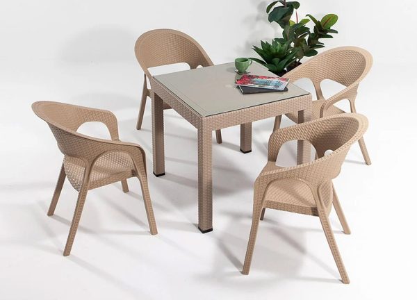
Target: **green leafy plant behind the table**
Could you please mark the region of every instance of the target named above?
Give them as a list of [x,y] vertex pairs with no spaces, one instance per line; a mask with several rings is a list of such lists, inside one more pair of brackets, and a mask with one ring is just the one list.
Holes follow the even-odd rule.
[[[282,76],[294,67],[301,64],[302,58],[315,56],[325,44],[320,40],[333,38],[332,33],[338,33],[332,28],[338,20],[338,16],[328,14],[320,21],[312,15],[299,21],[297,9],[300,3],[297,1],[279,0],[273,1],[266,8],[269,22],[276,22],[283,29],[282,38],[275,38],[271,43],[261,41],[261,47],[254,46],[253,49],[261,56],[252,58],[258,63]],[[291,19],[295,12],[295,21]],[[313,31],[306,26],[313,22]]]

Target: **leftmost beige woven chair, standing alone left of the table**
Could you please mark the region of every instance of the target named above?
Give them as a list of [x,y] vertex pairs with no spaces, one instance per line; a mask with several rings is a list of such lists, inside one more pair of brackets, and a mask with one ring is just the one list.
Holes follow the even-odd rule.
[[[113,113],[51,101],[35,102],[32,109],[47,122],[58,148],[64,154],[48,215],[54,215],[65,177],[79,192],[64,256],[70,255],[88,190],[121,181],[123,192],[129,192],[126,179],[133,176],[138,177],[142,187],[151,234],[158,233],[147,184],[145,151],[138,144],[120,142],[117,119]],[[110,131],[111,140],[77,133],[76,130],[85,122],[104,123]]]

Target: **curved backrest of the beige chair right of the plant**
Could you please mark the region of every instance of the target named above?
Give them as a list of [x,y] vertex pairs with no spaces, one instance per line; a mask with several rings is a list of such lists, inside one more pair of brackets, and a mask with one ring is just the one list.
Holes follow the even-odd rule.
[[372,56],[365,49],[338,47],[314,56],[288,72],[285,77],[293,80],[310,78],[315,85],[330,79],[349,86],[359,84],[368,74],[372,63]]

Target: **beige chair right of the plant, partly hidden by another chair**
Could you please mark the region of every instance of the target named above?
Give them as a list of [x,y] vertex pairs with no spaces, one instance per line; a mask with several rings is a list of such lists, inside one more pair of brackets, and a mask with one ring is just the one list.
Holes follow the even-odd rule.
[[[289,78],[292,82],[300,78],[311,79],[317,95],[317,100],[313,101],[313,119],[345,113],[340,108],[334,106],[336,102],[345,99],[350,102],[351,112],[356,113],[355,99],[359,83],[368,74],[370,67],[372,67],[372,62],[372,56],[364,49],[359,47],[338,47],[314,56],[306,63],[285,74],[284,77]],[[329,99],[325,99],[320,88],[320,83],[325,79],[341,83],[346,88]],[[286,114],[286,116],[297,123],[297,115]],[[274,130],[279,128],[280,123],[281,116],[277,116]],[[366,165],[370,165],[368,150],[363,138],[359,140],[359,146],[361,147]]]

